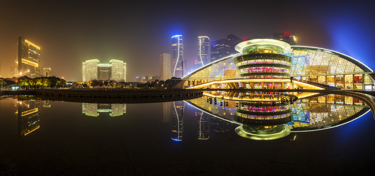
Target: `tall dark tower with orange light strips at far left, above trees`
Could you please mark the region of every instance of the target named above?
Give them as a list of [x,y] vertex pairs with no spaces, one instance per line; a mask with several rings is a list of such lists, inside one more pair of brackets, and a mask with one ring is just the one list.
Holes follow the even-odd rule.
[[18,38],[18,73],[29,78],[39,77],[40,72],[40,47]]

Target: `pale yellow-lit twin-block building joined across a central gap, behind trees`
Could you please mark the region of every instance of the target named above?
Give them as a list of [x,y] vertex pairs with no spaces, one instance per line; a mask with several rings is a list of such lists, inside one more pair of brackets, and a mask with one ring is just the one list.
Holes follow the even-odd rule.
[[126,81],[126,63],[112,59],[110,64],[99,64],[98,59],[87,60],[82,63],[82,80],[113,80]]

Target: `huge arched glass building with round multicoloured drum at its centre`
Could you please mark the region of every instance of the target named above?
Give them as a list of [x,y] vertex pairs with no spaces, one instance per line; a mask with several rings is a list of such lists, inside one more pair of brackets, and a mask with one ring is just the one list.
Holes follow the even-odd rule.
[[[183,77],[185,88],[373,88],[373,70],[345,54],[273,39],[236,45],[241,52]],[[293,78],[293,84],[291,82]]]

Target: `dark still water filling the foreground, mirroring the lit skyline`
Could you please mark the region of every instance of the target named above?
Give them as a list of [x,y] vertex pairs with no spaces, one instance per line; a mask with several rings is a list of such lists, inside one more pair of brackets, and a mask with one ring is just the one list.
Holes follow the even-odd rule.
[[[286,124],[291,133],[265,141],[239,136],[235,132],[239,124],[229,122],[230,115],[228,121],[219,118],[234,115],[235,102],[224,108],[206,99],[125,105],[24,99],[0,100],[0,175],[370,175],[375,171],[374,117],[368,111],[350,119],[366,108],[361,105],[324,104],[322,110],[314,103],[295,103],[310,110],[294,108],[292,112],[302,116]],[[223,111],[213,110],[214,106]],[[215,113],[208,113],[210,108]],[[350,114],[347,122],[353,121],[341,125],[334,117],[345,120],[343,114]]]

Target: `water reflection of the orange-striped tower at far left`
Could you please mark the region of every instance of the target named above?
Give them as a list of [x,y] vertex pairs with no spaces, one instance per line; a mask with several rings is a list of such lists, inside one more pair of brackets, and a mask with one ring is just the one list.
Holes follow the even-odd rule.
[[39,100],[24,100],[17,104],[18,135],[22,137],[40,127]]

